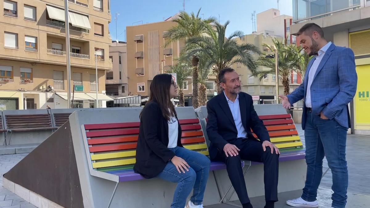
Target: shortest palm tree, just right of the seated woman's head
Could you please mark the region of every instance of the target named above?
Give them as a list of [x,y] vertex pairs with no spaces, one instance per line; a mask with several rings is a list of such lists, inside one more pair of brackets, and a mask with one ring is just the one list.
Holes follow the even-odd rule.
[[166,71],[167,73],[176,73],[177,76],[177,84],[179,86],[179,106],[185,105],[184,99],[184,87],[186,79],[191,76],[192,69],[190,64],[176,62],[176,64],[170,66],[171,69]]

